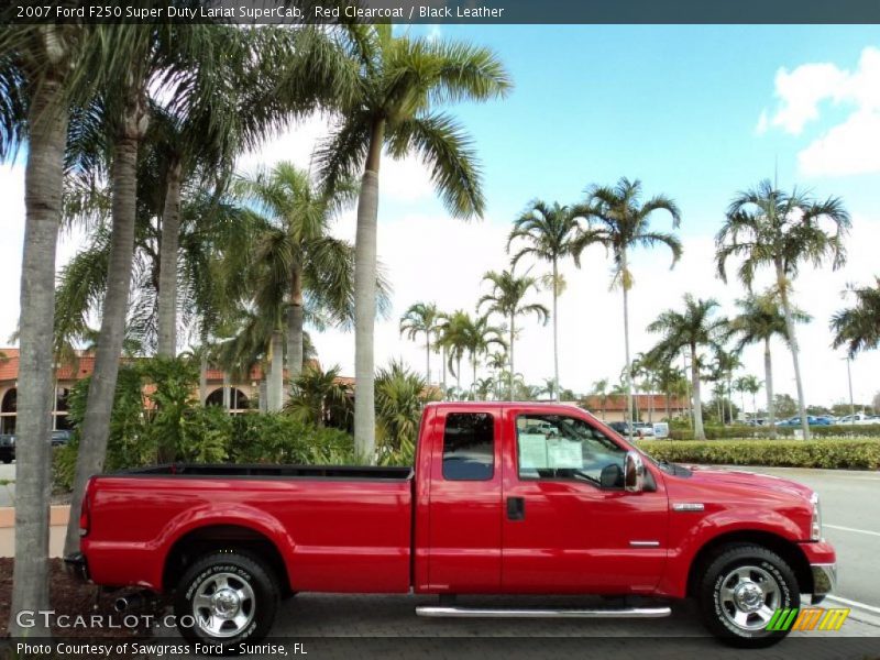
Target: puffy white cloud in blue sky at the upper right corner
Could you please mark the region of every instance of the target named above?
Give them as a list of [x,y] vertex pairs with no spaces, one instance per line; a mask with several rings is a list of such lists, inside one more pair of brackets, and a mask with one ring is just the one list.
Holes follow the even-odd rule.
[[880,50],[861,52],[855,70],[834,64],[804,64],[776,76],[777,110],[761,112],[756,131],[770,128],[799,135],[818,121],[823,105],[845,107],[849,114],[825,130],[798,154],[806,176],[847,176],[880,172]]

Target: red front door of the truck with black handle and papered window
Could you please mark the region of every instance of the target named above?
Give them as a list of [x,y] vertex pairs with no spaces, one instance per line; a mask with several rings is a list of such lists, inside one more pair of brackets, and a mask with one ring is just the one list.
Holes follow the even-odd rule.
[[667,495],[623,488],[626,449],[585,419],[505,410],[506,593],[649,593],[667,557]]

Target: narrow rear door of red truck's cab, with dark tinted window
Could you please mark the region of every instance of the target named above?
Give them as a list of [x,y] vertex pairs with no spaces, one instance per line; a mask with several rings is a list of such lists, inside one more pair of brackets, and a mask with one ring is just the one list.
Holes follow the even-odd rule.
[[497,593],[502,574],[501,410],[443,407],[433,424],[427,588]]

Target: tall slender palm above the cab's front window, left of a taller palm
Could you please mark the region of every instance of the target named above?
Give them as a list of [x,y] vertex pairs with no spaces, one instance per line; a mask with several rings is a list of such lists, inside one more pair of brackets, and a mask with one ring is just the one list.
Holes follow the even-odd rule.
[[516,266],[524,256],[550,262],[550,286],[553,290],[553,382],[556,387],[550,393],[554,400],[559,399],[559,315],[557,300],[562,293],[562,279],[559,274],[559,260],[571,254],[572,238],[578,230],[578,218],[571,207],[558,202],[549,205],[534,200],[526,211],[514,220],[514,229],[507,238],[507,252],[517,241],[525,243],[513,256],[512,266]]

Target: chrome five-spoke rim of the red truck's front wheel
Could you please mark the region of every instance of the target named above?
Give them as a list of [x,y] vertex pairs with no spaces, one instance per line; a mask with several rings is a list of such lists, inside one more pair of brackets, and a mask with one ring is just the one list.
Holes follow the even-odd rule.
[[759,566],[739,566],[722,580],[718,605],[724,617],[743,630],[763,630],[779,608],[779,582]]

